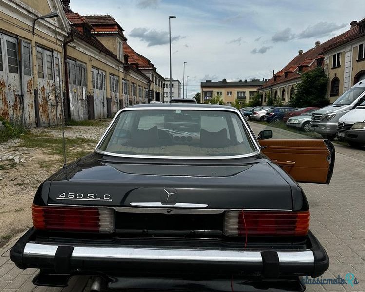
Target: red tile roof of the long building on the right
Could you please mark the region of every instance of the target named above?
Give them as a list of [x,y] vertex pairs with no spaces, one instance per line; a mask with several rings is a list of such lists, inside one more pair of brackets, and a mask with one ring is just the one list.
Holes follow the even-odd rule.
[[[358,24],[365,21],[365,18],[359,21]],[[362,34],[359,33],[359,25],[356,25],[355,27],[352,27],[345,33],[333,37],[323,44],[320,44],[318,46],[315,46],[312,49],[309,49],[307,52],[302,53],[294,57],[282,70],[277,72],[275,74],[275,78],[272,77],[268,80],[263,86],[261,86],[259,89],[268,88],[269,86],[280,84],[283,82],[287,82],[289,80],[300,78],[300,73],[298,73],[298,66],[304,66],[305,68],[303,71],[309,71],[317,66],[316,59],[324,58],[324,54],[328,50],[332,50],[338,46],[341,46],[342,44],[354,40],[358,37],[362,37],[365,35],[365,32]],[[323,66],[323,64],[322,64]],[[285,75],[283,76],[282,72],[293,72],[287,74],[287,77]]]

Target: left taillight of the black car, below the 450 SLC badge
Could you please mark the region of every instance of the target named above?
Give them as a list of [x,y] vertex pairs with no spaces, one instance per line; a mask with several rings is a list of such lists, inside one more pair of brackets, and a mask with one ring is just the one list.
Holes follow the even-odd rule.
[[114,211],[106,208],[32,205],[33,226],[42,230],[113,232]]

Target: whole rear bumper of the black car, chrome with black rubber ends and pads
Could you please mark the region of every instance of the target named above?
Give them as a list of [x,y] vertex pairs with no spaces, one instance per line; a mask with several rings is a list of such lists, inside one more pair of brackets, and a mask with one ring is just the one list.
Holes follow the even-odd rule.
[[[110,273],[121,267],[169,273],[205,273],[208,269],[224,273],[249,272],[263,278],[279,275],[320,276],[329,265],[326,251],[309,232],[310,248],[304,250],[205,249],[193,247],[112,246],[57,244],[29,240],[30,229],[14,245],[11,260],[22,269],[40,268],[61,274],[75,271]],[[117,270],[115,270],[117,269]]]

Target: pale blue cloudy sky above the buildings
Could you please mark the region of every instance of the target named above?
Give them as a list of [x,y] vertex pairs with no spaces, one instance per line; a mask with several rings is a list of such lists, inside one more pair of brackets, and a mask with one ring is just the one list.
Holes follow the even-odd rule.
[[[188,78],[188,96],[205,80],[271,78],[290,60],[365,18],[365,0],[71,0],[81,15],[110,14],[128,44],[163,77]],[[186,85],[186,84],[185,84]],[[185,88],[186,92],[186,88]]]

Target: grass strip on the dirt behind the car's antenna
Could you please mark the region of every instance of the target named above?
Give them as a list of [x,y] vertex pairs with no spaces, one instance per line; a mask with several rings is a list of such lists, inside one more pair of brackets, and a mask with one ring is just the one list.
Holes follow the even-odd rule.
[[[68,160],[75,160],[90,153],[98,140],[87,138],[65,138],[66,156]],[[44,149],[47,154],[63,156],[62,138],[26,133],[21,137],[19,147]],[[42,168],[49,168],[47,162],[41,162]]]

